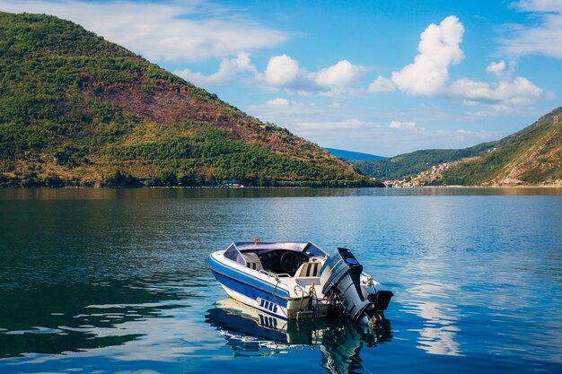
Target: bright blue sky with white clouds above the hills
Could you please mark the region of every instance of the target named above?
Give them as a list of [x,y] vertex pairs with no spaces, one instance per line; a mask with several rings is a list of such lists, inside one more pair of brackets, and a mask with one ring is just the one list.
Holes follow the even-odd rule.
[[562,0],[0,0],[77,22],[321,146],[495,140],[560,106]]

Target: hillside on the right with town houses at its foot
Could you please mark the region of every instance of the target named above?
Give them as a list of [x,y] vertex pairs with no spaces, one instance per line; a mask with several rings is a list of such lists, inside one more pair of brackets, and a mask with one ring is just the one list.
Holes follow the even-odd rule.
[[[562,184],[562,108],[491,143],[461,150],[426,150],[382,161],[355,161],[375,178],[413,178],[417,185],[514,186]],[[446,165],[443,165],[447,163]],[[438,170],[427,171],[442,165]]]

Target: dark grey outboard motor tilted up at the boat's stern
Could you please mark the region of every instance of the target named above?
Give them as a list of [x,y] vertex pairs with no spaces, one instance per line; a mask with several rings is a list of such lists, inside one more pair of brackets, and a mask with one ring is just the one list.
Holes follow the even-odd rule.
[[387,309],[393,296],[391,291],[383,290],[367,294],[361,286],[362,273],[363,265],[359,264],[356,257],[347,248],[338,248],[338,251],[329,255],[321,274],[321,283],[324,284],[322,293],[338,298],[345,309],[344,315],[354,321],[364,316],[371,319],[380,314]]

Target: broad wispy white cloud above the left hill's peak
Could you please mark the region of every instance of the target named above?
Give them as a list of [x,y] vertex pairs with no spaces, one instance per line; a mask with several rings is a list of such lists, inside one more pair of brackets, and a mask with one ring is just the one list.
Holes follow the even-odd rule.
[[0,0],[13,13],[47,13],[81,24],[154,61],[204,61],[275,47],[287,33],[250,21],[231,9],[200,1],[87,2]]

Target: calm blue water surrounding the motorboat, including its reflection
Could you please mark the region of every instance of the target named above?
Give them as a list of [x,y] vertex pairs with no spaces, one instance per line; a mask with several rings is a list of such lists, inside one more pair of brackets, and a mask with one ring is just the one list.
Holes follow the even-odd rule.
[[[562,372],[561,189],[0,190],[0,223],[2,373]],[[254,237],[351,248],[386,325],[228,312],[205,257]]]

